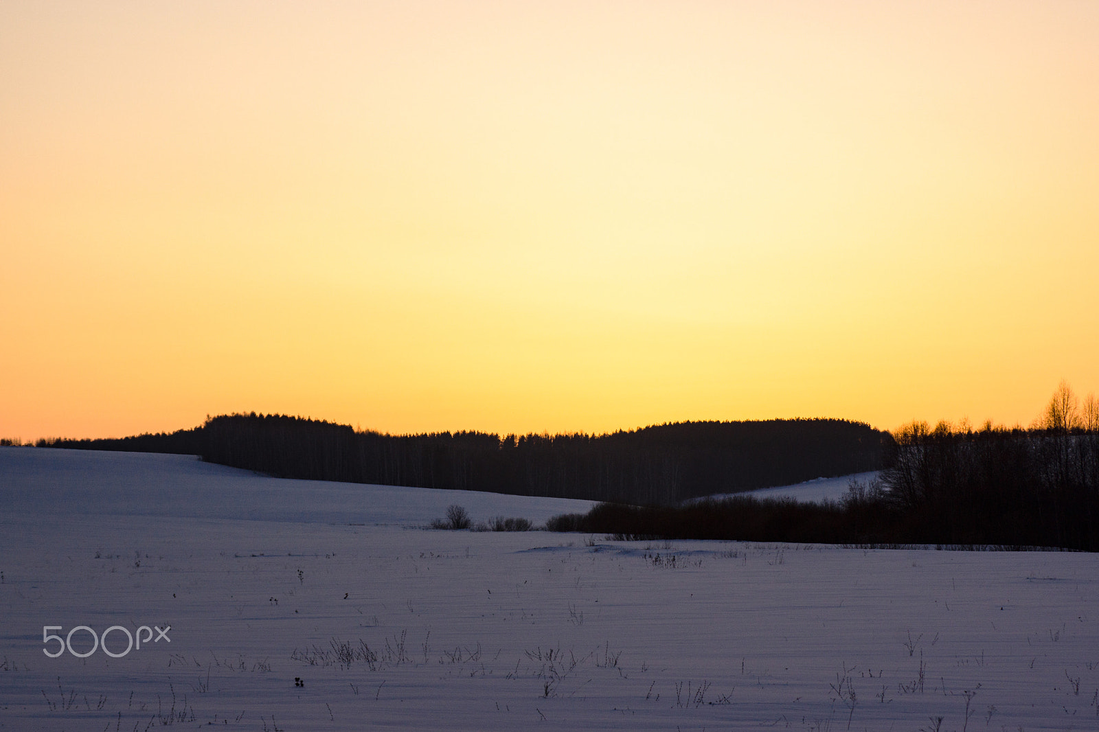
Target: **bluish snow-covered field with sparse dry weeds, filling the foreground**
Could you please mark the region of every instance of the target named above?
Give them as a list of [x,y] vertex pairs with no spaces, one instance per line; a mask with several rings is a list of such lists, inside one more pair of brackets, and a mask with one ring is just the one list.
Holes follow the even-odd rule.
[[124,453],[0,448],[0,501],[4,730],[1099,729],[1091,554],[425,531],[587,503]]

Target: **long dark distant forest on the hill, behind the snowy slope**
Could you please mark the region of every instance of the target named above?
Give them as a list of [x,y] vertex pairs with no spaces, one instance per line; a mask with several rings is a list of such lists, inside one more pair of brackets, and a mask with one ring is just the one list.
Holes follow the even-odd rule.
[[285,478],[484,490],[636,504],[875,470],[888,433],[833,419],[679,422],[611,434],[389,435],[299,417],[232,414],[201,428],[54,447],[193,453]]

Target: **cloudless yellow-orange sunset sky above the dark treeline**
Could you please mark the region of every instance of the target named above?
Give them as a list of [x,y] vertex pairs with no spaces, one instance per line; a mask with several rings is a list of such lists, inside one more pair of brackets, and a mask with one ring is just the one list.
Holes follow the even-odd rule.
[[1099,3],[0,4],[0,436],[1029,424]]

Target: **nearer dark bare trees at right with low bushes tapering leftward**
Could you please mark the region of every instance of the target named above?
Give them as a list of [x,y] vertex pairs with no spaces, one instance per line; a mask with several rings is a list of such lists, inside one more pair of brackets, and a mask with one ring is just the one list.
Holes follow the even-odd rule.
[[881,481],[837,503],[735,497],[681,507],[601,504],[550,528],[622,539],[1052,546],[1099,551],[1099,403],[1062,384],[1029,430],[913,422]]

